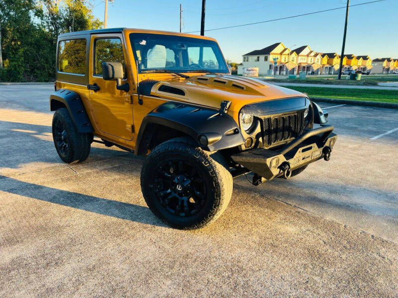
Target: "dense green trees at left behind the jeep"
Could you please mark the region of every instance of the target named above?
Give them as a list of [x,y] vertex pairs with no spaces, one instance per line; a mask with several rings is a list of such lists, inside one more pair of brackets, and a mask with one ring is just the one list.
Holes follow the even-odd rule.
[[0,82],[53,81],[58,35],[101,26],[88,0],[0,0]]

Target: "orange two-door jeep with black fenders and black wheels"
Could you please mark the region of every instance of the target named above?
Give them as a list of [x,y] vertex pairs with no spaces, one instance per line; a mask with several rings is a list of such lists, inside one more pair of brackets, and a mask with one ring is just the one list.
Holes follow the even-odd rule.
[[142,194],[177,228],[218,218],[234,177],[253,173],[255,185],[289,178],[328,160],[337,139],[308,96],[231,75],[217,42],[190,34],[61,34],[50,107],[67,163],[84,161],[92,142],[148,155]]

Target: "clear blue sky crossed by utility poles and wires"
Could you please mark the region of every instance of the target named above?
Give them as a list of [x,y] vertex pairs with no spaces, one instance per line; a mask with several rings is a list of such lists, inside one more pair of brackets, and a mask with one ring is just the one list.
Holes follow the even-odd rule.
[[[351,0],[352,4],[370,0]],[[103,20],[103,0],[93,0],[93,13]],[[114,0],[108,6],[108,28],[128,27],[200,30],[201,0]],[[205,29],[252,23],[344,6],[346,0],[206,0]],[[346,54],[398,58],[398,0],[350,7]],[[309,45],[317,52],[341,52],[345,9],[287,20],[205,32],[218,40],[226,59],[242,62],[241,55],[275,42]],[[199,34],[199,33],[195,33]],[[296,47],[294,47],[296,48]]]

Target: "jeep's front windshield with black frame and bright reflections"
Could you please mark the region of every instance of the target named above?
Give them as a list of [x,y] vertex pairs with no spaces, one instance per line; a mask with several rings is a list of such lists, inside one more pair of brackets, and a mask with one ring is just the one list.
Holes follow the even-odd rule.
[[164,34],[131,33],[138,71],[229,73],[217,43],[212,40]]

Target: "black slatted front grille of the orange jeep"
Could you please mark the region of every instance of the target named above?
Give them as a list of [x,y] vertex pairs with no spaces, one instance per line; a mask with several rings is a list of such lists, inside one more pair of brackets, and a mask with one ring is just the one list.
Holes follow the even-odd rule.
[[262,118],[263,147],[297,138],[304,130],[304,111]]

